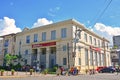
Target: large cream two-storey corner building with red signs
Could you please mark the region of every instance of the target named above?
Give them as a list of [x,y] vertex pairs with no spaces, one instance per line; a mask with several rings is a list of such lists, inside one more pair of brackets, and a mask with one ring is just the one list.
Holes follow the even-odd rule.
[[70,19],[17,33],[15,54],[22,55],[23,65],[95,69],[111,65],[108,44],[109,40]]

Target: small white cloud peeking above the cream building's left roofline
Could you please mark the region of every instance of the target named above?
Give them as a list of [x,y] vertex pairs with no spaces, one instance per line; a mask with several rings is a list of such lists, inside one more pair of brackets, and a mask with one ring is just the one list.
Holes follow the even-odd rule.
[[52,24],[52,23],[53,23],[53,21],[49,21],[46,18],[40,18],[40,19],[37,20],[37,22],[35,22],[33,24],[33,28],[34,27],[40,27],[42,25]]

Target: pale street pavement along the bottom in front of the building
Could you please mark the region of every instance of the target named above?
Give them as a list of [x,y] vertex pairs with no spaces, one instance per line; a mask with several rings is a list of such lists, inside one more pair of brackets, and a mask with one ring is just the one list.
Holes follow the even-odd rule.
[[[26,74],[26,73],[25,73]],[[0,80],[120,80],[120,73],[101,73],[95,75],[81,74],[77,76],[56,76],[56,75],[21,75],[21,76],[3,76]]]

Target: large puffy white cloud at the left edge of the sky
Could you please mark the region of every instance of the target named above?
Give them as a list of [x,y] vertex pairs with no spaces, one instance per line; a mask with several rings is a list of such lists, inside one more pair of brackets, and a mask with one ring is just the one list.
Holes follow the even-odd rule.
[[16,27],[14,19],[8,17],[0,19],[0,36],[17,32],[21,32],[21,29]]

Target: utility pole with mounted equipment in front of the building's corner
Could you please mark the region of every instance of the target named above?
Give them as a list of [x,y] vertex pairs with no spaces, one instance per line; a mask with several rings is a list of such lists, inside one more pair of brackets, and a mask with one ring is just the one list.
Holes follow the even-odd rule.
[[77,29],[77,27],[76,27],[75,38],[74,38],[74,52],[72,53],[73,54],[73,66],[75,66],[76,44],[78,43],[78,41],[80,39],[81,32],[82,32],[82,30],[81,29]]

